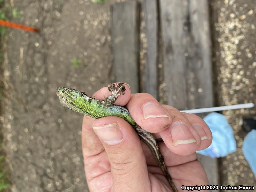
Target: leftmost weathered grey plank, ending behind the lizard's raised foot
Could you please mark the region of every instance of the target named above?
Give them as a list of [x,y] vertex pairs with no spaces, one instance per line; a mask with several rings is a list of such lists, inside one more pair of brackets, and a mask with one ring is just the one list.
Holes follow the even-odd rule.
[[136,1],[111,6],[115,81],[130,84],[132,93],[139,92],[138,8]]

